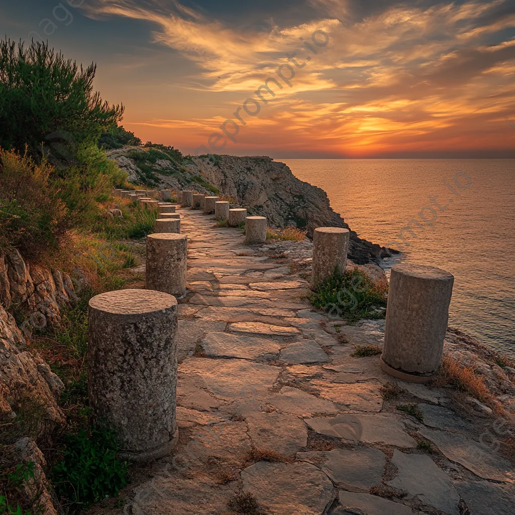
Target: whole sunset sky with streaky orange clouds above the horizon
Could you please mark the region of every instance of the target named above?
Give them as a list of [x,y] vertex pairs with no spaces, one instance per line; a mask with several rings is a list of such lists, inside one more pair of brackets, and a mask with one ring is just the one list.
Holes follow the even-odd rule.
[[[55,2],[43,4],[35,29]],[[98,63],[96,87],[124,103],[124,126],[144,141],[193,153],[219,133],[211,152],[274,158],[515,156],[513,0],[85,0],[68,9],[73,23],[56,21],[48,39]],[[3,14],[7,36],[24,37],[16,9]],[[264,92],[265,103],[255,91],[269,77],[276,96]],[[259,113],[239,109],[238,120],[248,98]],[[236,141],[220,129],[226,120]]]

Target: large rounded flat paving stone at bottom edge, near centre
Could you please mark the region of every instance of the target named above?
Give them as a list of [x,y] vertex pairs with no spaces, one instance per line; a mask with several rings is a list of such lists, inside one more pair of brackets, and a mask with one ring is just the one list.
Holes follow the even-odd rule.
[[241,476],[244,491],[272,515],[322,515],[333,495],[328,477],[308,463],[259,461]]

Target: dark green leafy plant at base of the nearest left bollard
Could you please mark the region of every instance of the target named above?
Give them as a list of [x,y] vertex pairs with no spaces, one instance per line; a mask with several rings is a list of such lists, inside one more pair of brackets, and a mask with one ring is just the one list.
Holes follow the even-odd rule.
[[116,458],[118,450],[115,433],[104,428],[66,436],[66,449],[52,479],[73,511],[116,495],[127,485],[127,462]]

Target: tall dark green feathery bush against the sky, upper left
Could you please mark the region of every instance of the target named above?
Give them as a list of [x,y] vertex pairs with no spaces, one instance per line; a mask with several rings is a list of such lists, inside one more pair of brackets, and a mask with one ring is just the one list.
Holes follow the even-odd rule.
[[[122,119],[123,106],[110,106],[93,90],[96,65],[79,68],[48,47],[0,41],[0,146],[33,156],[73,161],[75,144],[96,144]],[[63,141],[64,140],[64,141]]]

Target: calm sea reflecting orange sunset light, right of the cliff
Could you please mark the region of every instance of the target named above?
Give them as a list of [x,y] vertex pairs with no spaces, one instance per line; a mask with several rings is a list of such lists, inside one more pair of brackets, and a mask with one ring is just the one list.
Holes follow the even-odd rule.
[[401,247],[394,262],[453,273],[449,323],[515,357],[515,160],[276,161],[325,190],[359,236]]

